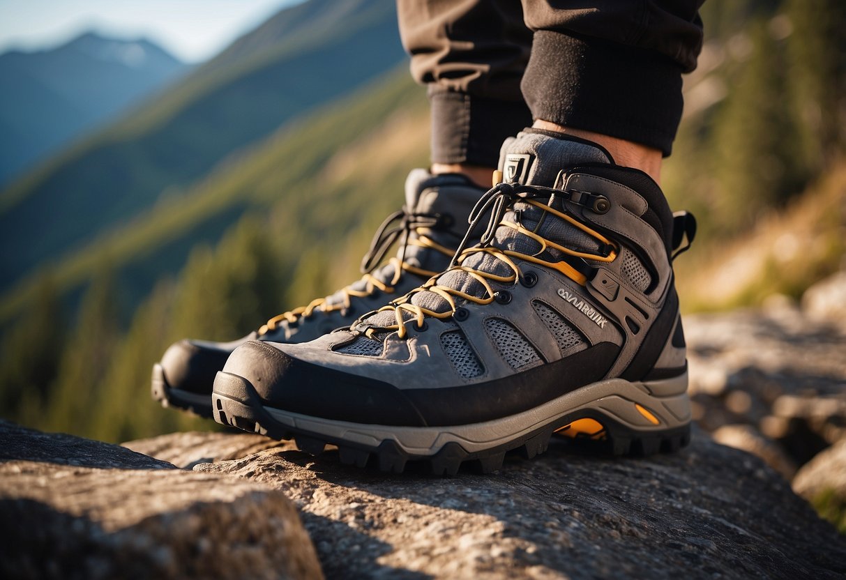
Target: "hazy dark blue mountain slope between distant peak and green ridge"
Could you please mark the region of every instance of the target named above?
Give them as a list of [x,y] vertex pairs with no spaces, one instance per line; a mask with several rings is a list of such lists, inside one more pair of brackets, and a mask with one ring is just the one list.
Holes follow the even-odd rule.
[[[314,7],[327,3],[311,0],[308,5],[314,5],[314,13]],[[0,194],[0,242],[12,251],[3,255],[0,287],[8,289],[43,260],[79,248],[103,228],[151,207],[168,189],[190,187],[240,147],[365,85],[404,59],[393,4],[347,0],[343,6],[356,8],[355,18],[336,22],[337,30],[325,30],[328,40],[309,43],[298,36],[293,45],[282,42],[251,53],[237,66],[212,74],[188,105],[177,103],[177,112],[160,114],[158,124],[139,127],[131,119],[117,123],[6,189]],[[204,75],[200,68],[187,81],[196,84],[191,79]],[[215,85],[216,75],[230,75],[230,80]],[[157,102],[169,98],[162,95]],[[157,110],[161,107],[152,103],[133,117]],[[38,222],[50,222],[52,228],[27,237]]]

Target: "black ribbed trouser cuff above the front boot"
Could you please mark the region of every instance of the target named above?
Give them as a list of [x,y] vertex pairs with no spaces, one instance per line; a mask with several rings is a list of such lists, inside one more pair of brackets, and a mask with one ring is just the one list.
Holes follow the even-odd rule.
[[682,113],[682,69],[659,54],[538,30],[522,84],[536,119],[662,150]]

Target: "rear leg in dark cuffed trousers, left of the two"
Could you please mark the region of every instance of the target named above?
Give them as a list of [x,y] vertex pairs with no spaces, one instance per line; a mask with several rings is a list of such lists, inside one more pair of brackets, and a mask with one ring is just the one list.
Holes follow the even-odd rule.
[[520,92],[531,32],[519,3],[398,1],[411,74],[431,104],[431,170],[488,188],[499,144],[531,123]]

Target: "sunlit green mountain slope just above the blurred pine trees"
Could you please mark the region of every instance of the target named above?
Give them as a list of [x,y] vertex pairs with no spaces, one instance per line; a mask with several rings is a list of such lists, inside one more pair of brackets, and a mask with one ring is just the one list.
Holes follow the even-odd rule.
[[[262,212],[269,211],[288,196],[287,190],[316,186],[330,187],[332,191],[338,189],[344,176],[354,172],[354,167],[349,167],[349,156],[340,163],[342,168],[338,168],[339,162],[330,162],[327,166],[324,163],[338,152],[348,152],[351,142],[366,139],[373,130],[368,129],[369,123],[374,123],[377,129],[381,124],[380,117],[398,111],[412,118],[426,119],[425,106],[425,90],[413,83],[404,66],[394,69],[353,94],[327,103],[298,123],[277,129],[276,133],[249,150],[241,150],[222,160],[190,189],[162,196],[148,211],[103,231],[81,249],[62,254],[55,262],[45,263],[42,270],[50,271],[57,286],[67,293],[90,280],[107,262],[118,271],[135,272],[131,276],[135,283],[125,289],[130,296],[138,295],[140,298],[159,277],[179,270],[193,244],[217,241],[245,211],[259,208],[263,208]],[[343,118],[348,116],[354,122],[339,129]],[[425,162],[427,151],[426,123],[418,124],[422,127],[408,135],[414,137],[413,143],[417,144],[416,152],[409,161],[416,160],[412,162],[421,164]],[[315,144],[309,147],[303,146],[299,137],[307,126],[313,126],[316,138]],[[374,145],[377,147],[377,144]],[[377,151],[373,147],[371,149],[366,150],[362,145],[356,147],[357,154],[352,162],[372,165]],[[397,150],[397,147],[393,149]],[[378,157],[382,161],[390,158],[385,155]],[[285,161],[288,161],[288,169],[283,168]],[[324,171],[322,175],[317,175],[316,170],[320,167],[324,167]],[[405,171],[408,169],[406,167]],[[403,177],[399,176],[396,183],[389,184],[386,189],[400,192]],[[384,200],[372,201],[384,205],[382,209],[386,212],[392,209],[392,206],[384,204]],[[401,203],[401,195],[397,193],[395,204]],[[372,219],[376,220],[378,216]],[[375,227],[377,224],[371,225]],[[181,256],[181,261],[177,256]],[[161,267],[162,260],[173,260],[173,265],[152,271],[155,267],[151,265],[159,263]],[[354,259],[354,263],[358,263],[358,258]],[[344,268],[343,271],[345,276],[354,275],[354,269]],[[144,276],[149,278],[146,282],[141,280]],[[333,278],[332,282],[344,283],[338,276]],[[40,279],[41,273],[36,271],[5,293],[0,293],[0,324],[14,317],[27,303],[33,296],[32,288],[38,286]],[[134,290],[135,284],[144,290]]]

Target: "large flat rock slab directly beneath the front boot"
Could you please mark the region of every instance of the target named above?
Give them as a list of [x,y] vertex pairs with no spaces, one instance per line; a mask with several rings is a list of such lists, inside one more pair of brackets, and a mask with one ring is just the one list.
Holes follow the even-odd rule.
[[[268,450],[195,470],[284,490],[330,577],[839,577],[846,546],[761,460],[701,432],[649,458],[553,445],[492,475],[387,475]],[[368,564],[369,562],[369,564]],[[330,572],[331,571],[331,572]]]

